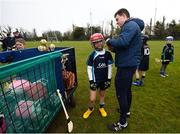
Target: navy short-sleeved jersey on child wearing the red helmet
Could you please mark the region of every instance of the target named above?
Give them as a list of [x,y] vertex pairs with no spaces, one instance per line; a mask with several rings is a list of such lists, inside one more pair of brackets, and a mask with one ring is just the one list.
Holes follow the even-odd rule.
[[111,64],[113,64],[113,58],[110,52],[93,51],[87,60],[87,65],[92,67],[92,80],[97,83],[107,81],[108,65]]

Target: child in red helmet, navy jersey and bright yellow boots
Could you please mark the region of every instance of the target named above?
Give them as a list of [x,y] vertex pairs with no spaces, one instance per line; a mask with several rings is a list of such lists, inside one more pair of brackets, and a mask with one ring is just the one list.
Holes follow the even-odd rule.
[[105,44],[104,37],[101,33],[91,35],[90,42],[95,49],[87,60],[87,73],[90,83],[89,108],[83,114],[83,118],[87,119],[94,111],[94,103],[96,100],[96,92],[99,89],[99,112],[102,117],[106,117],[107,113],[104,109],[105,91],[110,87],[112,77],[113,58],[110,52],[103,47]]

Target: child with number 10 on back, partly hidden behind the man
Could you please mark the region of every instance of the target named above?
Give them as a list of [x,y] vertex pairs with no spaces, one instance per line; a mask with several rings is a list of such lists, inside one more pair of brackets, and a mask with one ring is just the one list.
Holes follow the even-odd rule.
[[[150,48],[147,44],[149,39],[148,35],[142,35],[142,49],[141,49],[141,62],[136,70],[136,81],[132,84],[135,86],[142,86],[144,84],[144,79],[146,76],[146,71],[149,70],[149,55],[150,55]],[[141,74],[141,80],[140,80]]]

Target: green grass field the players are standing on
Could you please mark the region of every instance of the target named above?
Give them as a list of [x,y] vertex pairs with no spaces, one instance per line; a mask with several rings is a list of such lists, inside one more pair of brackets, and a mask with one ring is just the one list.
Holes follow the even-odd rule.
[[[133,101],[131,117],[128,119],[128,127],[124,133],[180,133],[180,41],[174,42],[175,60],[167,67],[169,77],[159,76],[160,63],[155,62],[159,58],[164,41],[149,41],[151,49],[150,69],[147,72],[145,85],[143,87],[132,87]],[[95,110],[87,120],[82,118],[83,112],[87,109],[89,97],[89,82],[86,73],[86,60],[92,48],[87,41],[59,42],[56,46],[74,47],[76,50],[76,65],[78,74],[78,88],[74,95],[76,107],[68,109],[71,120],[74,123],[73,132],[77,133],[110,133],[107,124],[117,121],[119,113],[115,96],[114,83],[107,90],[106,110],[108,116],[102,118],[98,112],[99,99],[97,97]],[[37,46],[35,42],[27,42],[28,47]],[[113,67],[113,80],[115,75]],[[50,125],[48,132],[65,132],[62,125],[65,122],[64,114],[58,114],[55,121]]]

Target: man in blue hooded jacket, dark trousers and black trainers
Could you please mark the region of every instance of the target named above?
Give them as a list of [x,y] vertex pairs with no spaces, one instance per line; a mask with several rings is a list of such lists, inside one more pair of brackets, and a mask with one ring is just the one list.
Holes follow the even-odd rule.
[[126,118],[130,115],[131,84],[133,74],[140,63],[141,31],[144,28],[144,22],[137,18],[130,18],[129,11],[125,8],[119,9],[114,17],[121,31],[117,39],[108,39],[106,43],[109,50],[115,53],[117,67],[115,87],[121,115],[118,122],[108,125],[108,128],[119,131],[128,125]]

